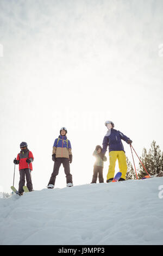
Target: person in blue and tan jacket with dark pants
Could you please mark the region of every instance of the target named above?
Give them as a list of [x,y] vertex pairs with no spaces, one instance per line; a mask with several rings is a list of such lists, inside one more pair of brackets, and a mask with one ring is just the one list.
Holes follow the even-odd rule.
[[55,139],[53,144],[52,160],[54,161],[53,173],[48,183],[48,188],[54,188],[56,176],[59,173],[61,163],[64,166],[66,174],[67,187],[73,186],[72,175],[70,173],[70,163],[72,163],[72,151],[71,143],[66,137],[67,129],[62,127],[60,129],[60,135]]

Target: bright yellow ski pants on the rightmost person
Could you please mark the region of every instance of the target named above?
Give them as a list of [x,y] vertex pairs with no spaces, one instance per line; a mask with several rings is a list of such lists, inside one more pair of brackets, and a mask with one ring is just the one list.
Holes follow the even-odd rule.
[[118,159],[120,172],[122,173],[121,178],[126,179],[127,163],[126,163],[126,155],[124,151],[110,151],[109,152],[110,164],[109,164],[109,169],[107,174],[107,180],[109,180],[110,178],[114,178],[115,165],[116,165],[117,159]]

